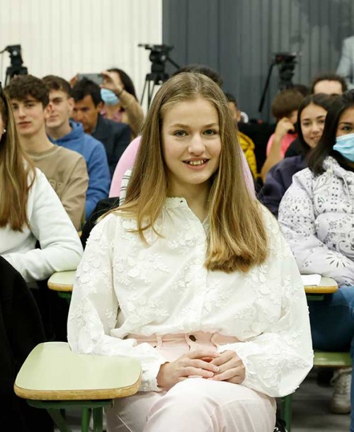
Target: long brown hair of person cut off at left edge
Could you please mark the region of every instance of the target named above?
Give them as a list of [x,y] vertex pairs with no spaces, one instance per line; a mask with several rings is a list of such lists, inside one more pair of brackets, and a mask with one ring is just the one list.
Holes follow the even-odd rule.
[[27,202],[35,170],[18,141],[11,103],[1,84],[0,114],[6,129],[0,140],[0,227],[8,224],[22,232],[24,225],[29,227]]

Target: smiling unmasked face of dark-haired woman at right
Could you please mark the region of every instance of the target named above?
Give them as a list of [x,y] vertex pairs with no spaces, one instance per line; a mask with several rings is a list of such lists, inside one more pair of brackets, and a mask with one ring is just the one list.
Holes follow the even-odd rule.
[[327,111],[321,106],[310,103],[302,110],[300,115],[300,126],[304,142],[314,148],[319,142],[324,131],[324,120],[326,120]]

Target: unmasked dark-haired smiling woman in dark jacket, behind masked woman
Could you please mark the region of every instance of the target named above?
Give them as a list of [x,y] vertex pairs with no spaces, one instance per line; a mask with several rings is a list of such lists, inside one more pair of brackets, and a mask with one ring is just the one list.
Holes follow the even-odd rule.
[[282,196],[292,183],[292,176],[306,168],[306,157],[310,149],[316,147],[324,130],[329,106],[336,96],[323,93],[304,98],[297,113],[297,132],[299,140],[299,156],[286,157],[273,166],[265,177],[265,183],[258,198],[275,217],[278,217],[278,208]]

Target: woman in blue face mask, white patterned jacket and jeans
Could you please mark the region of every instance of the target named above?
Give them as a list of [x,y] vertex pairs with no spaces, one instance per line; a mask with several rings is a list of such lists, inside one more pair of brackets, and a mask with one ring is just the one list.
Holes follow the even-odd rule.
[[[308,168],[295,174],[279,208],[279,223],[302,273],[336,280],[339,290],[309,302],[314,348],[354,357],[354,90],[329,107]],[[336,373],[331,409],[350,412],[350,369]],[[350,381],[352,385],[350,387]],[[354,431],[351,407],[350,431]]]

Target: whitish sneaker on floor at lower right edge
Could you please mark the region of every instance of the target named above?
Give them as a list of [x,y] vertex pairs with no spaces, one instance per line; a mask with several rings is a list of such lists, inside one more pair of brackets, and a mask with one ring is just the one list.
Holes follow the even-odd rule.
[[334,372],[331,379],[331,384],[334,384],[331,411],[336,414],[350,413],[351,373],[352,368],[341,368]]

